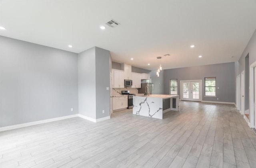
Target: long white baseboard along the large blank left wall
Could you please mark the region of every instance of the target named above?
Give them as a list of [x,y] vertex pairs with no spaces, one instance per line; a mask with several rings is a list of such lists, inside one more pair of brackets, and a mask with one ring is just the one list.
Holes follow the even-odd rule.
[[62,120],[62,119],[68,119],[68,118],[73,118],[73,117],[78,117],[78,114],[67,115],[67,116],[63,116],[63,117],[56,117],[56,118],[51,118],[51,119],[44,119],[44,120],[40,120],[40,121],[33,121],[33,122],[22,123],[22,124],[17,124],[17,125],[10,125],[10,126],[6,126],[6,127],[0,127],[0,132],[11,130],[11,129],[22,128],[22,127],[28,127],[28,126],[32,126],[32,125],[49,123],[49,122],[52,122],[52,121],[59,121],[59,120]]

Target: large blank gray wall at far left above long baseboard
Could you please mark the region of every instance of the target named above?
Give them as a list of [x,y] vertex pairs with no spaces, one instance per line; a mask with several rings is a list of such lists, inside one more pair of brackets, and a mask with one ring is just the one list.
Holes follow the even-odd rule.
[[0,36],[0,127],[77,114],[77,63],[76,53]]

